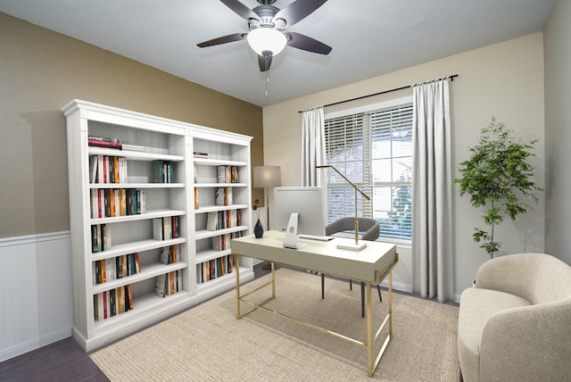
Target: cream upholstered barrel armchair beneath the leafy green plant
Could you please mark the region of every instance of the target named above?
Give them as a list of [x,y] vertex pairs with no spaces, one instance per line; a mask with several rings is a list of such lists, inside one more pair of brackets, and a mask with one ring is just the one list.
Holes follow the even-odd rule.
[[544,253],[494,258],[460,297],[462,377],[571,380],[571,267]]

